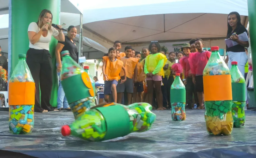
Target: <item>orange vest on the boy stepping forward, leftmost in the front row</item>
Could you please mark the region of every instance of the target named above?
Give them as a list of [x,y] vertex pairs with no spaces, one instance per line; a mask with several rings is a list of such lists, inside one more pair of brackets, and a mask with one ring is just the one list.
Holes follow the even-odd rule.
[[[108,81],[118,81],[120,79],[119,73],[124,64],[123,61],[117,59],[116,61],[110,61],[108,56],[103,56],[103,61],[106,61],[105,74],[108,75]],[[105,77],[103,79],[106,81]]]

